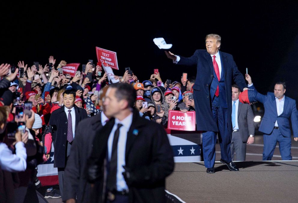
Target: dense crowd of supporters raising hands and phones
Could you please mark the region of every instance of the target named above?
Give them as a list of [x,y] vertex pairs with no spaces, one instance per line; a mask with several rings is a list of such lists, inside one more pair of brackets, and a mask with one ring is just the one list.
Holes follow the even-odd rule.
[[[101,66],[88,62],[71,77],[63,74],[66,64],[64,60],[56,63],[56,59],[50,56],[44,66],[38,62],[30,63],[30,66],[24,61],[19,61],[17,66],[0,66],[2,200],[13,202],[14,191],[21,187],[25,192],[23,196],[18,192],[18,198],[26,199],[26,188],[38,185],[36,166],[49,159],[52,145],[52,139],[42,135],[45,135],[52,112],[63,106],[66,90],[75,92],[75,105],[86,110],[89,117],[101,113],[105,92],[111,84],[107,73]],[[87,75],[92,75],[92,78]],[[195,77],[188,80],[181,77],[181,81],[174,82],[169,77],[163,81],[160,73],[155,72],[148,75],[147,80],[139,81],[136,75],[126,70],[123,76],[115,75],[115,78],[134,87],[137,93],[135,109],[152,122],[166,127],[169,110],[195,110],[192,96]]]

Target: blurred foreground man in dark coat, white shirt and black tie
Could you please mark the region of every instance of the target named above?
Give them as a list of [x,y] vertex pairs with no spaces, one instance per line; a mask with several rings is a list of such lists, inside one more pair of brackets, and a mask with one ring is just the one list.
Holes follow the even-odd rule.
[[88,159],[91,202],[166,202],[173,151],[162,125],[132,112],[135,97],[129,84],[108,88],[105,114],[114,118],[98,132]]

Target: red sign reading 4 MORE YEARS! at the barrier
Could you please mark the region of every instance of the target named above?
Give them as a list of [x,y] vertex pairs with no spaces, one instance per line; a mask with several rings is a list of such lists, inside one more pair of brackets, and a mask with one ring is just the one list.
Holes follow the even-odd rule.
[[168,129],[178,131],[195,131],[196,130],[196,112],[169,110]]

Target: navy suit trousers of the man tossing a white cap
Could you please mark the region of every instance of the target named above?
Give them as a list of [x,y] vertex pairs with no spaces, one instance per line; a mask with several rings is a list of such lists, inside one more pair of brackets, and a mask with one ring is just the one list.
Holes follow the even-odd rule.
[[[227,129],[228,109],[220,107],[218,101],[218,97],[214,97],[212,101],[212,114],[214,121],[218,126],[218,140],[220,144],[221,159],[230,163],[232,159],[230,149],[231,137],[228,135]],[[206,168],[214,167],[216,134],[216,132],[207,131],[203,133],[202,136],[203,156]]]

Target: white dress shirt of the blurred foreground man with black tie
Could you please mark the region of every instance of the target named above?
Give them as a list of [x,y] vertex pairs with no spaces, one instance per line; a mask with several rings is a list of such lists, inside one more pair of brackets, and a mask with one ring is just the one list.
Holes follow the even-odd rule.
[[119,139],[117,144],[117,191],[128,190],[128,186],[123,178],[122,173],[125,171],[123,166],[125,166],[125,150],[126,150],[126,139],[127,139],[127,132],[132,124],[132,113],[129,114],[125,119],[122,121],[115,119],[114,127],[110,133],[108,139],[108,158],[109,161],[111,160],[112,156],[112,146],[114,140],[114,134],[117,129],[118,124],[122,124],[119,133]]

